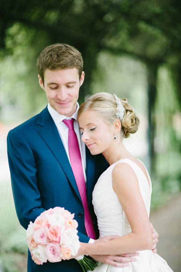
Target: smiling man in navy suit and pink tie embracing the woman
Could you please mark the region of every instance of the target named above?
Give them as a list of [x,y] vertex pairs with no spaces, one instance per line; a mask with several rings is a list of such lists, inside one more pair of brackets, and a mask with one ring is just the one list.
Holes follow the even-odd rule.
[[[81,53],[67,44],[50,45],[41,52],[37,68],[48,106],[11,130],[7,138],[17,216],[27,229],[41,212],[65,207],[75,213],[80,241],[94,242],[98,230],[91,204],[92,191],[108,164],[101,154],[92,156],[81,142],[77,123],[79,88],[84,82]],[[112,255],[94,258],[119,267],[134,260]],[[82,269],[75,259],[37,265],[28,252],[30,271],[81,272]]]

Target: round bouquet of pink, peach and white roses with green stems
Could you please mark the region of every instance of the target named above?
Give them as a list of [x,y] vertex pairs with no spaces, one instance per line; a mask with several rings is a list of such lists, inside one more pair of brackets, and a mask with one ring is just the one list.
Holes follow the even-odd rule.
[[[68,210],[55,207],[42,212],[27,228],[27,243],[36,264],[60,262],[75,256],[80,247],[78,223]],[[78,258],[84,272],[97,266],[89,256]]]

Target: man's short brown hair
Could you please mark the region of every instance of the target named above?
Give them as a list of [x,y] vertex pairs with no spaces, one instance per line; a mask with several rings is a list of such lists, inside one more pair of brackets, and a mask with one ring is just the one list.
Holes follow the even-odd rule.
[[44,84],[44,72],[46,69],[71,69],[77,68],[79,79],[83,70],[83,59],[81,53],[68,44],[52,44],[47,46],[38,57],[37,68]]

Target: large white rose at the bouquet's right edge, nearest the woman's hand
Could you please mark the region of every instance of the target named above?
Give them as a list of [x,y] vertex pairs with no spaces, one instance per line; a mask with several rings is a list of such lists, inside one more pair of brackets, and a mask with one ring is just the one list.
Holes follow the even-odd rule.
[[79,237],[77,235],[76,229],[68,228],[66,229],[61,236],[60,245],[62,247],[70,247],[72,256],[75,256],[80,248]]

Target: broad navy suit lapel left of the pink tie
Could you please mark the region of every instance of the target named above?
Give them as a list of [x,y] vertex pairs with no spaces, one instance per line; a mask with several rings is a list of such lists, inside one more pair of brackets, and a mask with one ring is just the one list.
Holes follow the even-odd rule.
[[75,181],[74,174],[71,169],[65,148],[63,146],[62,140],[60,138],[59,132],[56,128],[56,125],[49,114],[47,107],[40,112],[37,125],[39,125],[38,133],[49,147],[49,150],[52,152],[60,166],[62,167],[65,175],[67,176],[68,181],[71,183],[71,186],[75,190],[75,193],[78,195],[81,200],[77,183]]

